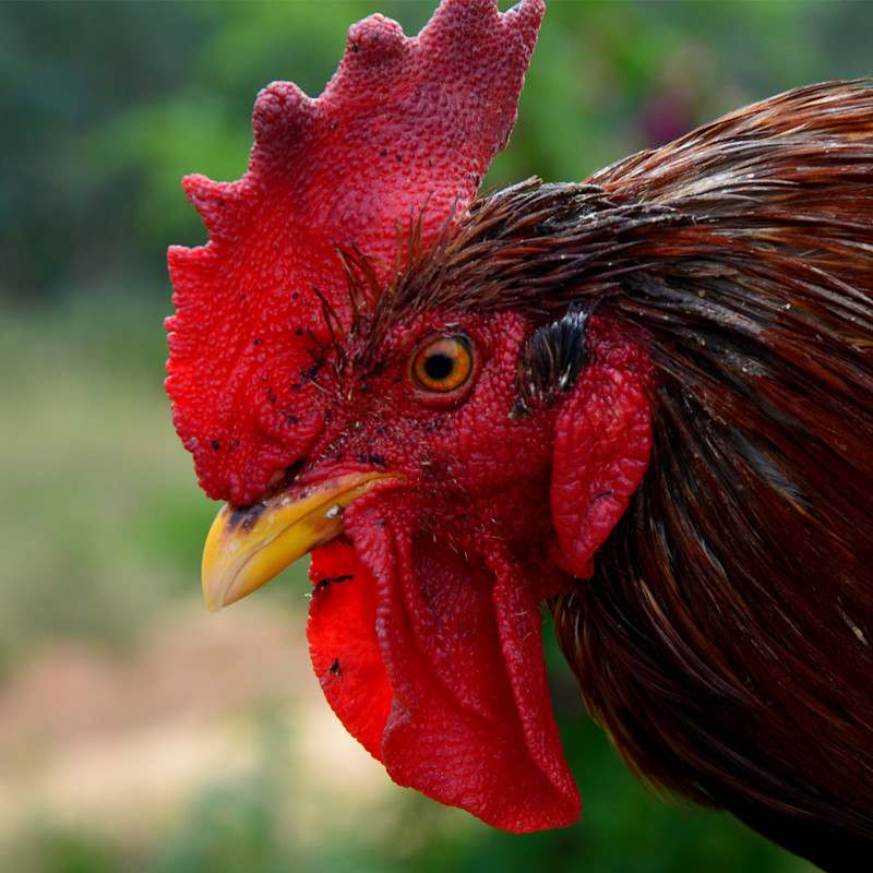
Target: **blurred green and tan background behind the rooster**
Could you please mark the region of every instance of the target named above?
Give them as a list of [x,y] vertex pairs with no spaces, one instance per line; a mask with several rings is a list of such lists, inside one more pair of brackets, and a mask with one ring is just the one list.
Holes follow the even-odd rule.
[[[551,650],[582,822],[499,834],[391,785],[323,702],[303,569],[219,619],[215,512],[163,394],[186,172],[238,178],[256,91],[316,95],[348,25],[431,0],[0,3],[0,869],[803,873],[665,805]],[[505,8],[505,7],[504,7]],[[873,5],[550,0],[486,184],[578,180],[743,103],[873,73]],[[549,629],[546,636],[549,637]]]

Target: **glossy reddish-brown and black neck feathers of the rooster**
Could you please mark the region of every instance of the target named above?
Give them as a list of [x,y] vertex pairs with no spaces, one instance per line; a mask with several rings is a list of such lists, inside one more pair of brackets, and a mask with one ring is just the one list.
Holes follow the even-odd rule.
[[646,344],[650,467],[559,641],[642,779],[848,865],[873,839],[873,87],[507,189],[393,306],[596,308]]

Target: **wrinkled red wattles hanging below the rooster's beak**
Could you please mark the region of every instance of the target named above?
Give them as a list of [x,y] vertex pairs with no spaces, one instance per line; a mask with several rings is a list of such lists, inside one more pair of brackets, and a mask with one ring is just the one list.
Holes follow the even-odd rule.
[[349,513],[354,549],[313,555],[309,638],[328,703],[399,785],[517,833],[576,821],[541,593],[505,559],[410,539],[374,513]]

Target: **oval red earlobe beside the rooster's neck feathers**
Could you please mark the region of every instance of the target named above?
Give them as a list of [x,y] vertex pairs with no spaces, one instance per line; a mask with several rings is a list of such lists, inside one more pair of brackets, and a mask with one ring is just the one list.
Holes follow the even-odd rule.
[[653,368],[629,340],[595,342],[591,363],[555,420],[551,509],[563,569],[594,573],[594,554],[643,479],[651,454]]

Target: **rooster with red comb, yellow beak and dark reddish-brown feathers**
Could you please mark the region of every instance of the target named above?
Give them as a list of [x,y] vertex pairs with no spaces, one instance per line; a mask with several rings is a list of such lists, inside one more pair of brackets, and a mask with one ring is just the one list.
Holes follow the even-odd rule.
[[569,825],[540,606],[666,796],[826,870],[873,839],[873,87],[477,190],[543,8],[374,15],[186,179],[167,390],[218,609],[312,552],[327,702],[391,777]]

